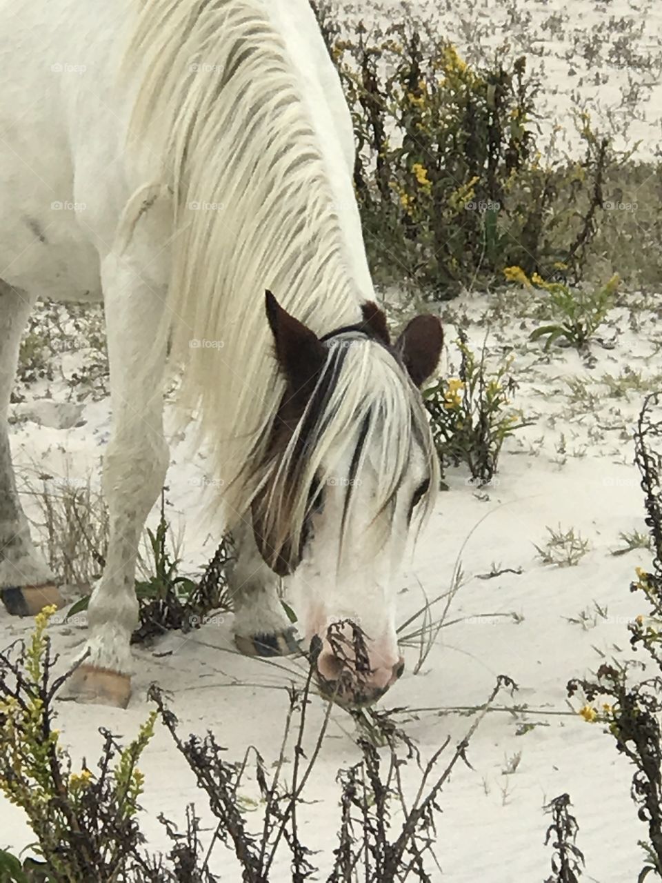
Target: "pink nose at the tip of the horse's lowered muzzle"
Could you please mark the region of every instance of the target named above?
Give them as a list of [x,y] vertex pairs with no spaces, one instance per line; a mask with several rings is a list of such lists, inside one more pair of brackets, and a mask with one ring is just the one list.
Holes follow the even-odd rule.
[[317,659],[320,692],[346,708],[372,706],[403,671],[402,656],[392,666],[380,666],[369,671],[357,671],[350,660],[340,660],[326,646]]

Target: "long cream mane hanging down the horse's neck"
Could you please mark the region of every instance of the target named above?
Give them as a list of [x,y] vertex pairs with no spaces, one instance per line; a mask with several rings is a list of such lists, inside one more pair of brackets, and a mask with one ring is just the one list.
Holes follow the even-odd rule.
[[[225,502],[241,513],[246,452],[264,456],[285,386],[265,289],[323,334],[360,321],[372,286],[356,278],[356,246],[342,234],[319,136],[264,7],[145,0],[124,68],[142,72],[130,137],[163,156],[163,184],[174,193],[169,303],[157,337],[172,325],[184,402],[199,411]],[[352,378],[354,389],[364,374]]]

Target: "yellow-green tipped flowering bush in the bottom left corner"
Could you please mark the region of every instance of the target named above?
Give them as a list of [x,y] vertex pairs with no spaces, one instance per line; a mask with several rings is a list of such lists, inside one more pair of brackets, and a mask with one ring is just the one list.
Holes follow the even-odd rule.
[[[54,660],[46,629],[55,612],[44,608],[36,616],[28,644],[15,645],[18,654],[0,653],[0,791],[26,812],[37,838],[34,849],[43,858],[43,864],[28,860],[21,867],[2,853],[0,879],[110,881],[118,879],[140,842],[133,817],[144,780],[137,765],[154,733],[156,713],[124,749],[102,730],[97,773],[85,762],[79,773],[71,772],[71,758],[52,726],[52,698],[64,682],[51,681]],[[27,877],[24,869],[35,865],[40,876]]]

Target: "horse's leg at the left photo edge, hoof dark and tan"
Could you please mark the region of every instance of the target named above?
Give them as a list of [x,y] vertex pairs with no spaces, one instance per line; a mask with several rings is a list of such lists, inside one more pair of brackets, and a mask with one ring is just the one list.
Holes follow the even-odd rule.
[[26,291],[0,280],[0,591],[9,613],[19,616],[63,603],[53,585],[53,574],[30,537],[16,490],[7,427],[20,336],[34,300]]

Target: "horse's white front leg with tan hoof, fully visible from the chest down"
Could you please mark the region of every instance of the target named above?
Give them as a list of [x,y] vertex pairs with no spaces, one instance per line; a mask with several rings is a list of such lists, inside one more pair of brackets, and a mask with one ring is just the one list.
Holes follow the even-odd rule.
[[110,535],[106,566],[87,611],[84,662],[71,678],[71,692],[83,701],[120,707],[131,696],[139,540],[169,463],[163,435],[165,343],[154,343],[165,290],[144,282],[141,272],[140,262],[126,253],[102,261],[113,413],[102,487]]

